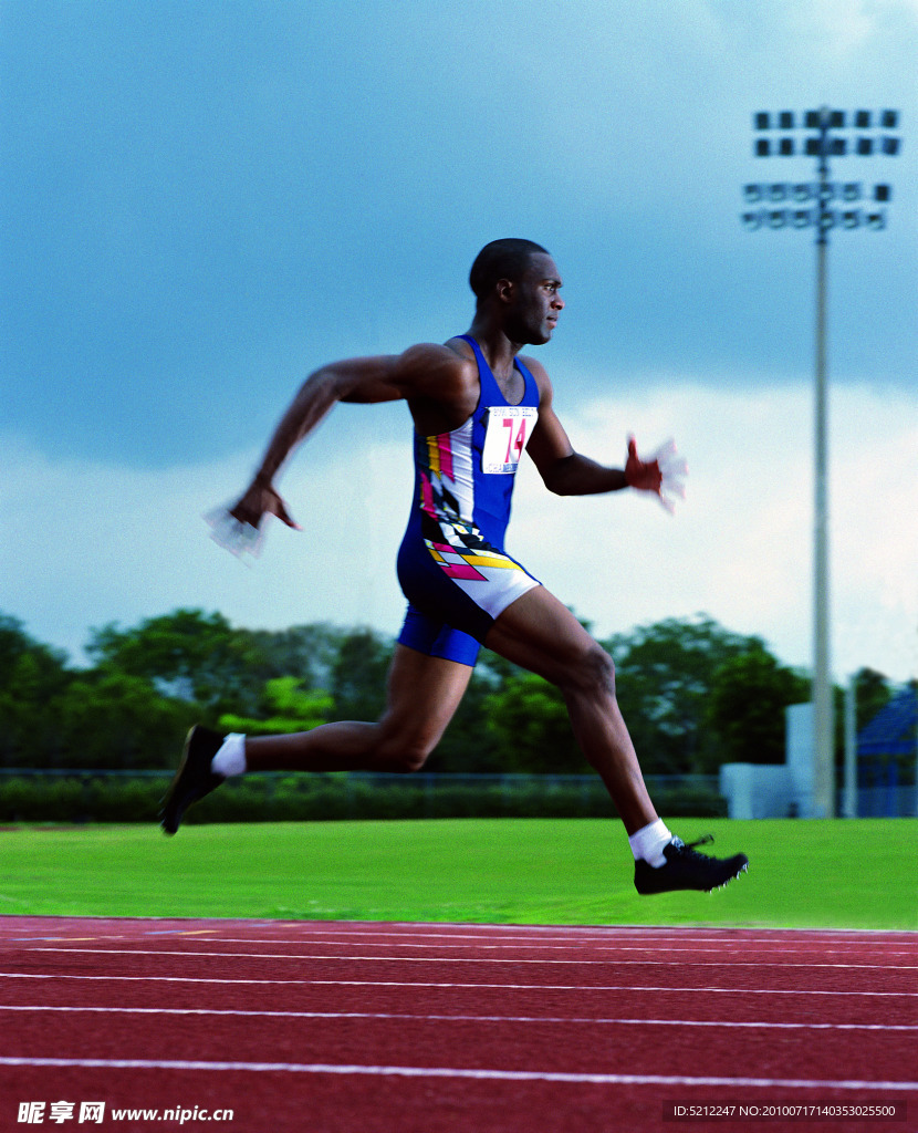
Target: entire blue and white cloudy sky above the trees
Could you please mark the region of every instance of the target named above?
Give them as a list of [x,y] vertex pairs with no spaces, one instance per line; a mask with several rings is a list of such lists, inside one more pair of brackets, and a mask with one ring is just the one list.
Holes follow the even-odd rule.
[[0,612],[76,663],[180,606],[396,633],[404,406],[334,410],[252,566],[200,517],[311,369],[465,331],[523,236],[575,446],[689,479],[670,517],[524,465],[508,550],[599,636],[704,613],[808,666],[814,231],[741,214],[815,162],[753,113],[895,109],[899,155],[832,162],[892,199],[830,233],[831,656],[918,675],[916,58],[918,0],[0,0]]

